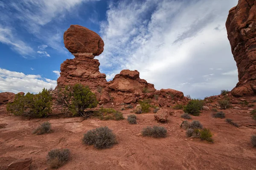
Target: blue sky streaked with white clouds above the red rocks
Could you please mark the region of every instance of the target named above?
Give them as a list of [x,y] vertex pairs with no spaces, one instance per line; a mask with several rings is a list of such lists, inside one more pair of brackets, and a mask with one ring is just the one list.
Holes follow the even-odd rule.
[[0,0],[0,91],[38,93],[55,87],[73,56],[63,34],[71,24],[98,33],[97,56],[111,80],[140,71],[155,88],[195,98],[238,82],[225,22],[238,0]]

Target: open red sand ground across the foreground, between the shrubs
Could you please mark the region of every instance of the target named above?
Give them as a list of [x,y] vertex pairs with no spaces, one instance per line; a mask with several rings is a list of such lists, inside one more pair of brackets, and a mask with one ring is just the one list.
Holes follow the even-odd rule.
[[[241,107],[241,106],[239,106]],[[120,107],[121,108],[121,107]],[[120,109],[119,108],[119,109]],[[170,108],[168,108],[170,109]],[[256,121],[248,108],[224,110],[240,127],[212,117],[212,111],[193,116],[204,127],[210,128],[214,143],[187,138],[180,129],[181,113],[169,116],[166,124],[154,120],[154,113],[137,115],[138,124],[127,120],[102,121],[96,118],[49,117],[24,119],[9,115],[0,106],[0,170],[16,159],[32,158],[31,170],[49,169],[47,153],[55,148],[69,148],[71,159],[60,170],[255,170],[256,147],[250,137],[256,134]],[[127,117],[132,109],[122,111]],[[33,135],[40,123],[52,123],[53,132]],[[143,127],[161,125],[168,136],[154,139],[140,135]],[[83,134],[90,129],[108,126],[116,134],[118,144],[111,149],[97,150],[82,143]]]

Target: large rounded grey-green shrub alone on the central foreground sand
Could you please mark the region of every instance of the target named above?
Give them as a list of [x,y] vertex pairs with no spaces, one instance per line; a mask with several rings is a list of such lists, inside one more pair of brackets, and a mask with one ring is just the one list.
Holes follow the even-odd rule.
[[117,143],[115,134],[107,126],[88,130],[84,134],[83,142],[88,145],[93,144],[97,149],[111,148]]

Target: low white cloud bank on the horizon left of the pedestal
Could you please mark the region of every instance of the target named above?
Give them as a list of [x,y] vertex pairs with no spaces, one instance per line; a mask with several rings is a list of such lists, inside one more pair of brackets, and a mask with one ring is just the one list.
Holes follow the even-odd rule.
[[43,88],[55,88],[57,81],[41,78],[40,75],[24,74],[0,68],[0,91],[39,93]]

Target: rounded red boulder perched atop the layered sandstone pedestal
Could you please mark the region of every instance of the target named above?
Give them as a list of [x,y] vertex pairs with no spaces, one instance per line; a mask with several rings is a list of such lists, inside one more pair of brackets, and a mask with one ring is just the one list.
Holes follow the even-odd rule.
[[104,49],[104,42],[97,33],[79,25],[71,25],[65,31],[64,44],[72,54],[92,53],[98,56]]

